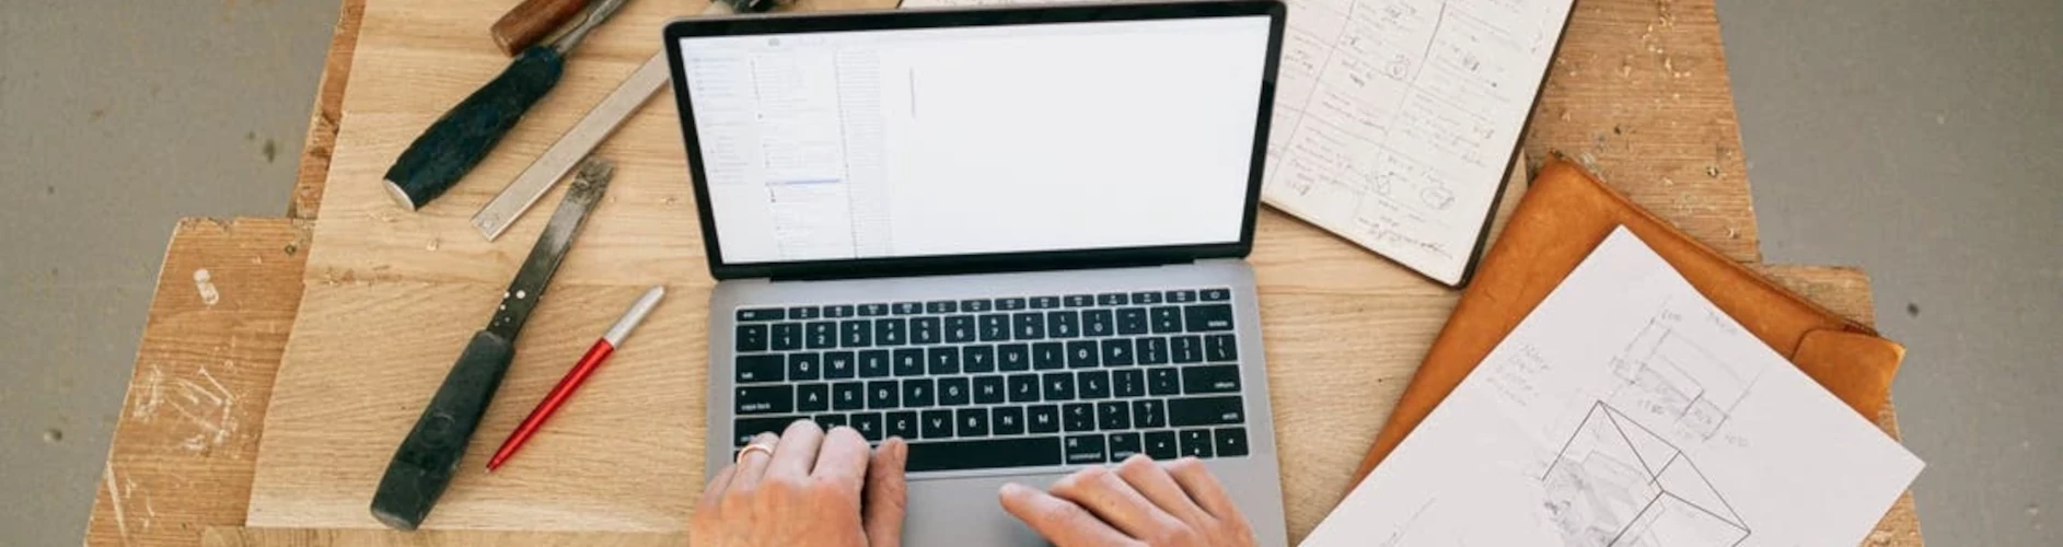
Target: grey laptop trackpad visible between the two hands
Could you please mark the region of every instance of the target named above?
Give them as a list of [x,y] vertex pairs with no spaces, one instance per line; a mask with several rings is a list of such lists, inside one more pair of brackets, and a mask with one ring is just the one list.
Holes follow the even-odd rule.
[[910,514],[904,518],[904,545],[1048,545],[1021,520],[1003,510],[996,489],[1019,483],[1044,489],[1058,481],[1052,475],[990,475],[961,479],[910,481]]

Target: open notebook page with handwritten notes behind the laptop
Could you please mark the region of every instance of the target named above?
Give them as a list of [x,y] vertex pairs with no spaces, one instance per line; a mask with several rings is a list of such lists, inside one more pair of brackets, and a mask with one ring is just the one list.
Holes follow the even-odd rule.
[[[904,0],[902,6],[1056,4]],[[1572,0],[1289,0],[1263,198],[1461,283]]]

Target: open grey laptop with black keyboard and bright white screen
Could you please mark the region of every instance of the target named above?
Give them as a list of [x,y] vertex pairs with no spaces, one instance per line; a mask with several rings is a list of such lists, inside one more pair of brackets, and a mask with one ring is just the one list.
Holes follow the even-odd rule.
[[706,473],[796,419],[910,442],[908,545],[1199,456],[1283,545],[1254,242],[1281,2],[666,25],[710,272]]

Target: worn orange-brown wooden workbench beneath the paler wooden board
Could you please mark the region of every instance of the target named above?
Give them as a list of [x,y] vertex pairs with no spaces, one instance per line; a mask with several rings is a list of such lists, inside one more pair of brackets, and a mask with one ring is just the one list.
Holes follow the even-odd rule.
[[[99,483],[87,543],[679,543],[679,537],[666,533],[444,530],[404,537],[361,528],[241,528],[250,510],[258,442],[264,433],[260,423],[301,305],[312,223],[322,208],[330,175],[330,153],[342,124],[340,105],[351,85],[363,12],[363,0],[345,0],[289,215],[190,219],[175,229]],[[477,31],[454,29],[452,35],[477,35]],[[485,41],[485,35],[481,39]],[[1551,70],[1527,134],[1527,157],[1570,155],[1723,254],[1760,262],[1710,0],[1584,0],[1576,6],[1568,41]],[[1275,219],[1275,225],[1308,229],[1281,219]],[[1269,250],[1256,252],[1256,260],[1281,258]],[[1859,270],[1760,268],[1836,312],[1871,320],[1869,283]],[[202,270],[204,279],[198,277]],[[1308,283],[1294,289],[1322,293],[1329,287]],[[1281,351],[1285,343],[1289,341],[1271,343],[1271,349]],[[1374,423],[1380,423],[1380,417]],[[1879,425],[1896,433],[1890,411],[1879,417]],[[1372,427],[1343,431],[1339,444],[1360,450],[1372,436]],[[1357,456],[1355,450],[1333,452]],[[1285,458],[1291,452],[1296,450],[1285,450]],[[1345,464],[1349,469],[1341,473],[1351,471],[1351,460]],[[1308,522],[1345,495],[1347,487],[1341,479],[1337,485],[1291,489],[1287,500],[1291,520],[1302,522],[1296,535],[1308,533]],[[1869,545],[1921,545],[1910,495],[1886,516]]]

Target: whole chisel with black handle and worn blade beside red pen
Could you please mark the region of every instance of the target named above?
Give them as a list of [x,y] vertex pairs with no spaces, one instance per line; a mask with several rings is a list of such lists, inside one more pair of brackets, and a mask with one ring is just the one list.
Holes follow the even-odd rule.
[[501,293],[501,308],[495,308],[487,328],[472,334],[466,349],[458,353],[452,372],[444,376],[444,386],[429,398],[429,407],[417,417],[408,438],[394,450],[380,489],[373,491],[371,512],[382,524],[398,530],[415,530],[429,516],[429,508],[452,485],[458,458],[466,454],[472,429],[481,425],[487,403],[495,398],[501,376],[516,359],[516,332],[522,330],[530,310],[551,285],[551,275],[565,260],[574,235],[586,223],[588,213],[609,192],[613,165],[602,159],[588,159],[580,165],[574,188],[565,192],[559,211],[551,213],[551,223],[536,237],[530,256],[516,270],[516,281]]

